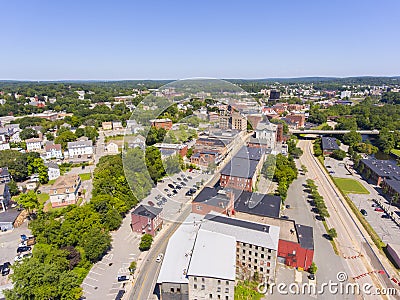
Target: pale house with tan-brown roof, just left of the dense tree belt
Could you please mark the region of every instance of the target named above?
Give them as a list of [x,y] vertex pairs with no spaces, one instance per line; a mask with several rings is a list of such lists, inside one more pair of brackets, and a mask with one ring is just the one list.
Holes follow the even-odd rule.
[[52,207],[67,206],[76,204],[81,178],[79,175],[64,175],[58,177],[50,188],[50,202]]

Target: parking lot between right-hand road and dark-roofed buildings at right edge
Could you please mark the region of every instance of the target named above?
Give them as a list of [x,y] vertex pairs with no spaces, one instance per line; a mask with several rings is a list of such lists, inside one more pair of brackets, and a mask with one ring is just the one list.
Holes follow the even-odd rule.
[[[399,209],[395,206],[389,206],[387,199],[379,193],[380,188],[367,183],[352,168],[349,169],[349,172],[345,168],[345,163],[352,164],[347,158],[342,162],[329,157],[325,158],[325,166],[332,176],[355,179],[370,192],[369,195],[348,194],[348,196],[357,206],[358,210],[364,209],[366,211],[367,215],[364,216],[365,219],[371,224],[383,242],[397,244],[400,237],[399,226],[391,218],[382,216],[386,216],[387,213],[385,211],[389,211],[389,214],[393,212],[393,215],[398,218],[400,215]],[[379,205],[373,207],[373,204]],[[379,208],[384,211],[377,211],[380,210]]]

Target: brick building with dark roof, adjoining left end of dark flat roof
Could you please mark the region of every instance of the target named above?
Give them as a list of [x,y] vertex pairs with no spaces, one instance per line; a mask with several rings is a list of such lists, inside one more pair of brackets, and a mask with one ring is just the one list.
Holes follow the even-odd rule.
[[217,212],[230,215],[233,211],[234,194],[231,191],[205,187],[192,201],[192,213],[206,215]]

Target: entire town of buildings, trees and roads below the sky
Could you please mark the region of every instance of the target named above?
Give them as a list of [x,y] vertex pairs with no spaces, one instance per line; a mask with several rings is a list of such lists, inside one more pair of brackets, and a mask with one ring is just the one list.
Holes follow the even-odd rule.
[[0,81],[0,295],[396,299],[399,104],[400,77]]

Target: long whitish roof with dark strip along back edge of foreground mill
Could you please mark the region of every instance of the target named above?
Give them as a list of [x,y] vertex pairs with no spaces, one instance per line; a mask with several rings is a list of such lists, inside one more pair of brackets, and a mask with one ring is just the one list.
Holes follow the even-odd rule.
[[202,229],[230,235],[242,243],[277,250],[279,227],[230,218],[218,214],[207,214]]

